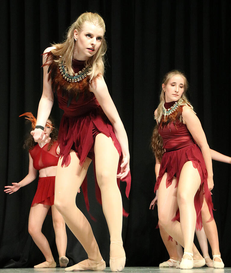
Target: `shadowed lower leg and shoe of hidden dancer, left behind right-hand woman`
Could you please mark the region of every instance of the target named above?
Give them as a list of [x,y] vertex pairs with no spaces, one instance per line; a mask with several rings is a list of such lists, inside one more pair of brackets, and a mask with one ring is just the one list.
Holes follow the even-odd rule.
[[169,240],[169,234],[165,231],[163,226],[159,223],[160,235],[168,251],[168,261],[159,264],[159,267],[176,267],[178,263],[177,244],[174,239]]

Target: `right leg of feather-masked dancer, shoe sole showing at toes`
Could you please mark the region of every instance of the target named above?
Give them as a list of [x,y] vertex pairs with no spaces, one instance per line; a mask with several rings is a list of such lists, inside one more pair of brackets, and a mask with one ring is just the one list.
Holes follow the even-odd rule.
[[66,224],[63,220],[63,216],[58,212],[57,208],[53,205],[51,206],[52,210],[52,220],[55,232],[55,242],[57,250],[59,253],[59,264],[60,267],[66,267],[69,260],[66,257],[66,245],[67,245],[67,236],[66,236]]

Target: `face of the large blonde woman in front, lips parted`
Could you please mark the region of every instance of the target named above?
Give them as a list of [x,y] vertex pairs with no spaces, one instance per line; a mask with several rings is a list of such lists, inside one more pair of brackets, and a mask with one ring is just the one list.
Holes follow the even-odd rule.
[[98,51],[103,38],[103,28],[85,22],[81,32],[74,30],[75,50],[78,60],[88,60]]

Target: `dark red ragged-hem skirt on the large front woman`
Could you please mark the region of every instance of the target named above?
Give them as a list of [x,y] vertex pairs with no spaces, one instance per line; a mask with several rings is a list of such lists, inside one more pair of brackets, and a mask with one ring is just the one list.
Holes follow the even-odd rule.
[[[113,131],[112,125],[101,107],[93,109],[90,113],[78,116],[68,117],[65,114],[62,117],[59,127],[58,143],[60,147],[60,158],[62,158],[62,167],[70,164],[70,150],[74,150],[80,160],[80,165],[85,162],[86,157],[92,159],[94,164],[94,141],[98,133],[103,133],[107,137],[111,137],[119,153],[119,164],[117,174],[120,173],[120,165],[122,163],[122,149],[116,135]],[[94,164],[95,174],[95,164]],[[122,180],[125,181],[126,196],[128,198],[131,187],[131,174]],[[120,189],[120,179],[117,179],[117,185]],[[82,183],[82,190],[85,198],[87,210],[89,211],[88,192],[87,192],[87,177],[85,177]],[[102,204],[101,192],[97,183],[95,174],[95,191],[97,201]],[[128,213],[123,209],[123,215],[128,216]]]

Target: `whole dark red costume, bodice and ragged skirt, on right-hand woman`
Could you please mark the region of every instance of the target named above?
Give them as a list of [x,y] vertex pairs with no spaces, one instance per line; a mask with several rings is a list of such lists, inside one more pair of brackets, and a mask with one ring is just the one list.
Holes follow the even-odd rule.
[[[165,108],[168,109],[173,104],[174,102],[165,103]],[[196,192],[194,198],[194,205],[197,215],[196,228],[201,229],[201,208],[204,197],[209,207],[211,219],[213,218],[213,203],[211,198],[211,192],[208,189],[208,173],[206,170],[202,152],[199,146],[195,144],[191,133],[189,132],[186,124],[183,124],[183,122],[176,121],[175,124],[173,122],[170,122],[168,125],[163,124],[162,126],[159,124],[158,131],[163,139],[163,148],[165,149],[165,153],[162,157],[159,176],[157,178],[154,191],[159,188],[162,177],[166,172],[166,188],[171,185],[174,176],[177,178],[177,187],[183,165],[187,161],[192,161],[193,167],[198,170],[201,178],[201,185],[199,187],[199,190]],[[177,215],[173,220],[176,219],[179,219],[179,211],[177,212]]]

